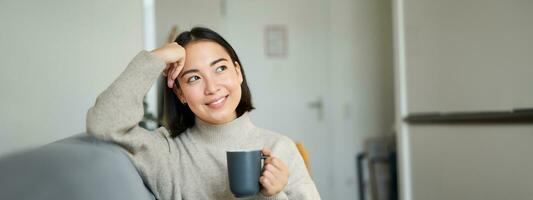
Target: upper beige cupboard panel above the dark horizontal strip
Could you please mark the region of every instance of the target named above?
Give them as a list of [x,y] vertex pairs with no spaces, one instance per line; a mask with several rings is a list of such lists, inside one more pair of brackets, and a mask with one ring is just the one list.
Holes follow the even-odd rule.
[[405,1],[409,111],[533,107],[533,2]]

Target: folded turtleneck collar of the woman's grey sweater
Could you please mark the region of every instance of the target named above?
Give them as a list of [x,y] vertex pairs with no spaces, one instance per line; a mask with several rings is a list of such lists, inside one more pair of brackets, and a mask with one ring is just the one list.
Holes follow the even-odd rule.
[[192,129],[194,137],[198,136],[198,139],[203,142],[210,144],[227,144],[245,138],[248,136],[246,134],[252,133],[251,130],[254,129],[254,127],[248,112],[245,112],[233,121],[219,125],[209,124],[196,117]]

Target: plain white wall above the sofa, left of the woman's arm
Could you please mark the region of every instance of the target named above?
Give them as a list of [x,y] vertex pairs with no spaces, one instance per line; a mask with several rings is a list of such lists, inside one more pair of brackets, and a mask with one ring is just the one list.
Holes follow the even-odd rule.
[[141,1],[0,1],[0,154],[85,131],[142,49]]

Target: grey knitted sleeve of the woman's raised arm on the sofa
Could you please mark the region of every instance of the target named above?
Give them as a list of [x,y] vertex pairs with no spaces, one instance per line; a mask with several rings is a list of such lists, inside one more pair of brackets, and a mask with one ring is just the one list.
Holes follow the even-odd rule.
[[157,199],[178,199],[177,175],[171,168],[176,166],[175,143],[163,127],[151,132],[138,125],[143,98],[164,67],[150,52],[138,53],[98,96],[87,113],[86,128],[89,135],[120,145]]

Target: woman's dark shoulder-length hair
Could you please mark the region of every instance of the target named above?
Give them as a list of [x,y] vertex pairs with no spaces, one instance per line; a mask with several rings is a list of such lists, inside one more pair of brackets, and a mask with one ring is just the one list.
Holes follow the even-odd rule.
[[[253,110],[252,95],[250,94],[250,89],[246,83],[246,76],[244,75],[242,63],[239,60],[237,53],[235,53],[235,50],[233,50],[233,47],[231,47],[222,36],[211,29],[195,27],[191,29],[191,31],[185,31],[179,34],[175,42],[182,47],[185,47],[187,44],[199,40],[216,42],[226,50],[232,63],[237,62],[240,65],[243,78],[241,84],[242,95],[235,111],[237,112],[237,117],[239,117],[245,112]],[[163,87],[163,123],[170,131],[170,135],[174,138],[184,132],[187,128],[194,126],[195,115],[189,106],[181,104],[172,89],[167,87],[166,79],[162,80],[161,87]]]

